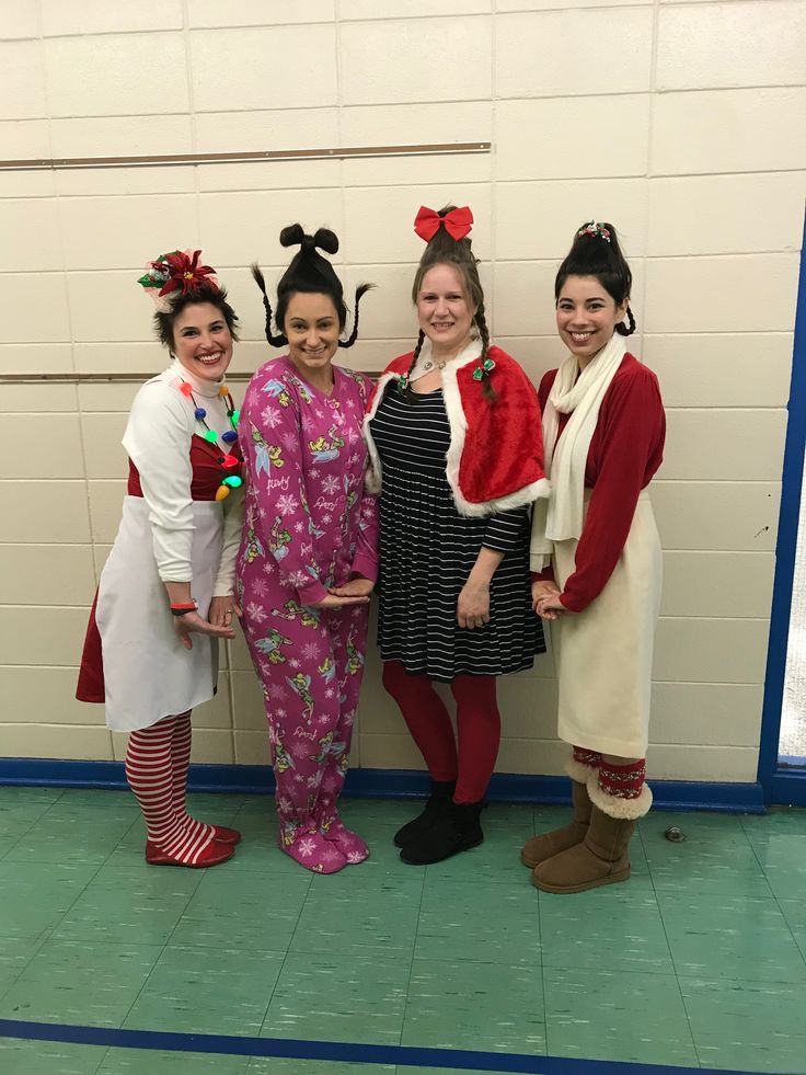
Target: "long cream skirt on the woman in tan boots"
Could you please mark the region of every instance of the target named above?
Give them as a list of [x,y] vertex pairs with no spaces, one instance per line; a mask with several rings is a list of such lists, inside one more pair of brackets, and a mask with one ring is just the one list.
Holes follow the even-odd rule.
[[[585,490],[585,511],[591,490]],[[562,590],[578,541],[554,544]],[[559,734],[566,743],[620,757],[645,757],[655,627],[660,605],[660,538],[649,494],[638,496],[624,550],[607,585],[582,613],[551,625],[559,681]]]

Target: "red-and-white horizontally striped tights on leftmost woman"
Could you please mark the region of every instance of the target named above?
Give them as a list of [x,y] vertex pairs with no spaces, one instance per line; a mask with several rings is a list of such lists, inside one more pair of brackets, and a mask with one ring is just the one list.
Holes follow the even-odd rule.
[[204,861],[215,828],[187,813],[191,713],[165,717],[129,733],[126,779],[146,819],[148,838],[187,866]]

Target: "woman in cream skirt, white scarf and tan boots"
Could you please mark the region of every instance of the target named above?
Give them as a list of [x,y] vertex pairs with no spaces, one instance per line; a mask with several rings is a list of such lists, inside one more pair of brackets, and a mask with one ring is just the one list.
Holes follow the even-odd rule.
[[577,231],[555,281],[569,354],[540,386],[552,492],[532,525],[532,597],[552,621],[559,734],[573,747],[574,820],[521,860],[546,892],[630,877],[627,845],[652,805],[644,782],[660,541],[646,491],[666,421],[655,374],[624,344],[632,274],[615,229]]

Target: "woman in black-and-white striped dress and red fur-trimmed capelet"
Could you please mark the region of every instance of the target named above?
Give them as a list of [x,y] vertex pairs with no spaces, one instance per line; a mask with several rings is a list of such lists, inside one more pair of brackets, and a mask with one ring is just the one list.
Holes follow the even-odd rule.
[[[490,344],[472,220],[467,207],[421,208],[417,345],[380,377],[365,423],[381,490],[383,684],[431,777],[425,810],[394,837],[413,865],[484,838],[496,677],[544,651],[528,548],[530,504],[548,491],[540,409],[515,359]],[[450,684],[458,740],[434,681]]]

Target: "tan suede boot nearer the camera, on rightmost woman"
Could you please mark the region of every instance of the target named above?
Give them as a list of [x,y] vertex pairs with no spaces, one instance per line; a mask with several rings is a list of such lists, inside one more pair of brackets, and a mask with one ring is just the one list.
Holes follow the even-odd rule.
[[541,862],[532,884],[542,892],[585,892],[630,877],[627,846],[635,830],[632,817],[610,817],[597,805],[582,844]]

